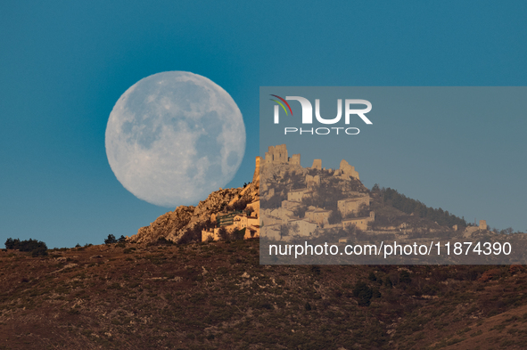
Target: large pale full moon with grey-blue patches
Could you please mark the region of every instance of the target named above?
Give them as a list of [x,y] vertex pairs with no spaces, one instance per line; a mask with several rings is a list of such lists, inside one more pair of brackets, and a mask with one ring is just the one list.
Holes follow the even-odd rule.
[[113,174],[137,198],[162,207],[205,199],[235,176],[245,151],[242,113],[206,77],[169,71],[122,94],[106,127]]

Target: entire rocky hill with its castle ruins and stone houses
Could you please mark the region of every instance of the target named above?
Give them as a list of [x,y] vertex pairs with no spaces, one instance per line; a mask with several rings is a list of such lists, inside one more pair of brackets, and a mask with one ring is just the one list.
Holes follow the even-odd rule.
[[[185,243],[261,236],[291,241],[329,234],[333,241],[344,243],[376,235],[416,240],[490,232],[484,220],[467,224],[397,191],[378,186],[368,190],[345,159],[336,169],[323,167],[322,159],[301,167],[301,155],[290,156],[281,144],[268,147],[255,163],[252,182],[243,188],[219,189],[196,207],[180,206],[127,240],[148,243],[162,238]],[[406,208],[400,205],[401,199],[406,200]]]

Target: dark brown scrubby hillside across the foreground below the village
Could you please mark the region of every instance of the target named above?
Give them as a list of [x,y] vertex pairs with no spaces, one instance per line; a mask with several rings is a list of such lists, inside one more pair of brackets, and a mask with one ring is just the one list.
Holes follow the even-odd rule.
[[259,265],[259,240],[49,252],[0,252],[0,348],[527,347],[516,265]]

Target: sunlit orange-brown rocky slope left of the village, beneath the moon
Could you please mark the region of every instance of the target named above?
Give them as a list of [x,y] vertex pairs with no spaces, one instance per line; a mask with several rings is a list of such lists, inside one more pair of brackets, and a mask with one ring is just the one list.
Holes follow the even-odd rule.
[[[132,243],[150,243],[161,238],[179,243],[185,232],[214,223],[216,215],[236,204],[251,203],[259,199],[259,182],[249,183],[245,188],[225,189],[210,193],[197,207],[180,206],[158,217],[149,226],[141,227],[137,234],[128,238]],[[201,232],[201,231],[200,231]]]

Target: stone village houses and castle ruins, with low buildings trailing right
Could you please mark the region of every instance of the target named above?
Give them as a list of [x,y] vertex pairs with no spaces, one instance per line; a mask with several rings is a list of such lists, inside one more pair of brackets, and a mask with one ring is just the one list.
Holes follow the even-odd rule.
[[[251,191],[245,208],[226,209],[234,208]],[[214,225],[202,230],[201,239],[250,239],[261,235],[269,240],[290,241],[327,232],[390,233],[404,239],[422,229],[422,225],[408,222],[408,217],[400,223],[375,223],[371,196],[372,192],[360,182],[358,171],[345,159],[337,169],[322,167],[322,159],[313,159],[311,167],[305,168],[301,167],[301,154],[290,156],[285,144],[269,146],[265,157],[256,158],[252,183],[231,198],[222,211],[210,215]],[[435,224],[429,230],[441,232],[445,227]],[[457,225],[448,230],[457,232]],[[479,226],[466,227],[459,234],[470,236],[486,230],[482,220]]]

